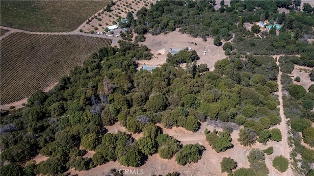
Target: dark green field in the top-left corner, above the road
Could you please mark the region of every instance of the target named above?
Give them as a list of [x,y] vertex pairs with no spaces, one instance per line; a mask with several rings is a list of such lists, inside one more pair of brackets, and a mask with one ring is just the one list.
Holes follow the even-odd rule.
[[1,0],[1,26],[34,32],[75,30],[110,1]]

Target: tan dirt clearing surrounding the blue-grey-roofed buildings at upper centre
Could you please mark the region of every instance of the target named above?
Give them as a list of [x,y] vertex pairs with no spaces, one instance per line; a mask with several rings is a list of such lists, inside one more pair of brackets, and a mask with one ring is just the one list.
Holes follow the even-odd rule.
[[[162,65],[166,63],[166,57],[170,48],[182,49],[190,47],[192,50],[196,50],[197,54],[200,56],[197,64],[206,63],[210,71],[214,70],[215,62],[226,58],[222,47],[213,45],[212,38],[208,38],[207,41],[204,42],[202,38],[194,38],[188,34],[182,34],[179,31],[179,28],[176,31],[169,32],[168,34],[146,34],[145,37],[146,40],[139,43],[150,48],[154,56],[151,60],[138,60],[137,63],[139,64]],[[162,54],[160,50],[165,50],[165,52]],[[205,55],[203,55],[204,50],[206,51]],[[158,53],[161,55],[158,55]]]

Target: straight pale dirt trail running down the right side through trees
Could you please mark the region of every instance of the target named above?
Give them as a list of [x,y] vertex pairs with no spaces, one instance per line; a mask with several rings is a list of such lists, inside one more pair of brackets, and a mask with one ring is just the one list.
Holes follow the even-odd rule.
[[[276,64],[279,66],[279,57],[276,57],[276,56],[273,56],[274,58],[276,58]],[[284,157],[286,158],[290,158],[289,156],[289,145],[288,145],[288,137],[287,137],[287,134],[288,134],[288,130],[287,130],[287,119],[286,119],[286,116],[284,114],[284,106],[283,106],[283,99],[282,99],[282,96],[283,96],[283,93],[282,93],[282,85],[281,85],[281,75],[282,75],[282,72],[280,71],[280,67],[279,67],[279,73],[278,73],[278,77],[277,77],[277,83],[278,83],[278,99],[279,99],[279,102],[280,102],[280,105],[279,105],[279,113],[280,113],[280,117],[281,117],[281,124],[278,126],[279,129],[281,130],[281,133],[283,135],[283,139],[282,139],[282,154]],[[291,167],[288,167],[288,170],[283,173],[284,175],[287,175],[287,176],[292,176],[292,169]]]

